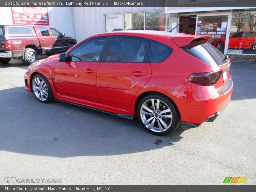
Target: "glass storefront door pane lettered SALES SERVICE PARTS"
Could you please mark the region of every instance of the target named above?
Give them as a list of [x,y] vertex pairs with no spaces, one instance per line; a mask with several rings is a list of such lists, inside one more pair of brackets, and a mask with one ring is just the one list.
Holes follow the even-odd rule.
[[208,43],[224,52],[228,27],[228,15],[198,16],[196,34],[211,35]]

